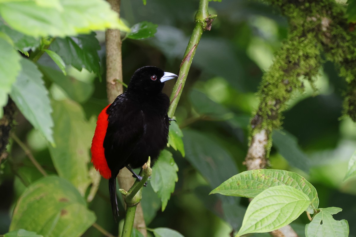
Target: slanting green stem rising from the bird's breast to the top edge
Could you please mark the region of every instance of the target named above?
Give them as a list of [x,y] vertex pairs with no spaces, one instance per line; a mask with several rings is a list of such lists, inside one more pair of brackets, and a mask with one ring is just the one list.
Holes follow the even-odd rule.
[[209,15],[208,3],[209,0],[200,0],[199,9],[197,14],[195,14],[195,27],[193,29],[192,36],[190,36],[187,49],[185,50],[183,61],[179,69],[179,77],[173,87],[171,95],[171,106],[168,111],[168,117],[170,118],[173,117],[174,112],[176,111],[180,95],[182,94],[185,81],[187,80],[190,65],[192,65],[195,51],[197,50],[197,46],[201,38],[201,34],[203,34],[204,30],[209,30],[211,21],[216,17]]

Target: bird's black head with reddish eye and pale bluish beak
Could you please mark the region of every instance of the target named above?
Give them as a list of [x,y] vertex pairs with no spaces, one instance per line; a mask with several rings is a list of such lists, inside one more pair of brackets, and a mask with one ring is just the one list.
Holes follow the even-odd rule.
[[165,72],[155,66],[145,66],[135,71],[127,90],[145,94],[157,94],[162,91],[164,82],[177,77],[176,74]]

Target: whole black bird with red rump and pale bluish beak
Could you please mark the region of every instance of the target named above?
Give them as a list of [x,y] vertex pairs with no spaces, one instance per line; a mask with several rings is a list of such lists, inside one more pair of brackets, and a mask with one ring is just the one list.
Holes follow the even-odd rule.
[[132,171],[143,166],[148,156],[154,162],[168,141],[169,98],[162,93],[164,82],[176,78],[154,66],[137,69],[127,90],[105,107],[98,116],[91,162],[101,176],[109,179],[114,217],[118,214],[116,176],[120,169]]

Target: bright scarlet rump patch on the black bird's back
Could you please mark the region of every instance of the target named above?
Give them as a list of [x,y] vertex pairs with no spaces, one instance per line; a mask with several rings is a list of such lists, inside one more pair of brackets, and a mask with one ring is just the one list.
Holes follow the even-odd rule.
[[93,163],[94,168],[100,172],[101,176],[106,179],[111,177],[111,170],[105,159],[104,154],[104,138],[106,134],[106,129],[108,129],[108,117],[106,109],[110,106],[106,106],[103,111],[100,112],[98,116],[98,121],[96,121],[96,128],[94,132],[93,141],[91,141],[91,163]]

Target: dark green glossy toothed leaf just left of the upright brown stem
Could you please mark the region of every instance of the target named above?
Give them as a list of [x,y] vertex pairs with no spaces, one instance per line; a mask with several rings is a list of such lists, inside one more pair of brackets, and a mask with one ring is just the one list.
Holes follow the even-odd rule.
[[100,45],[95,33],[79,35],[77,37],[57,38],[51,44],[51,50],[56,52],[67,65],[72,65],[79,71],[82,68],[93,71],[101,79]]

